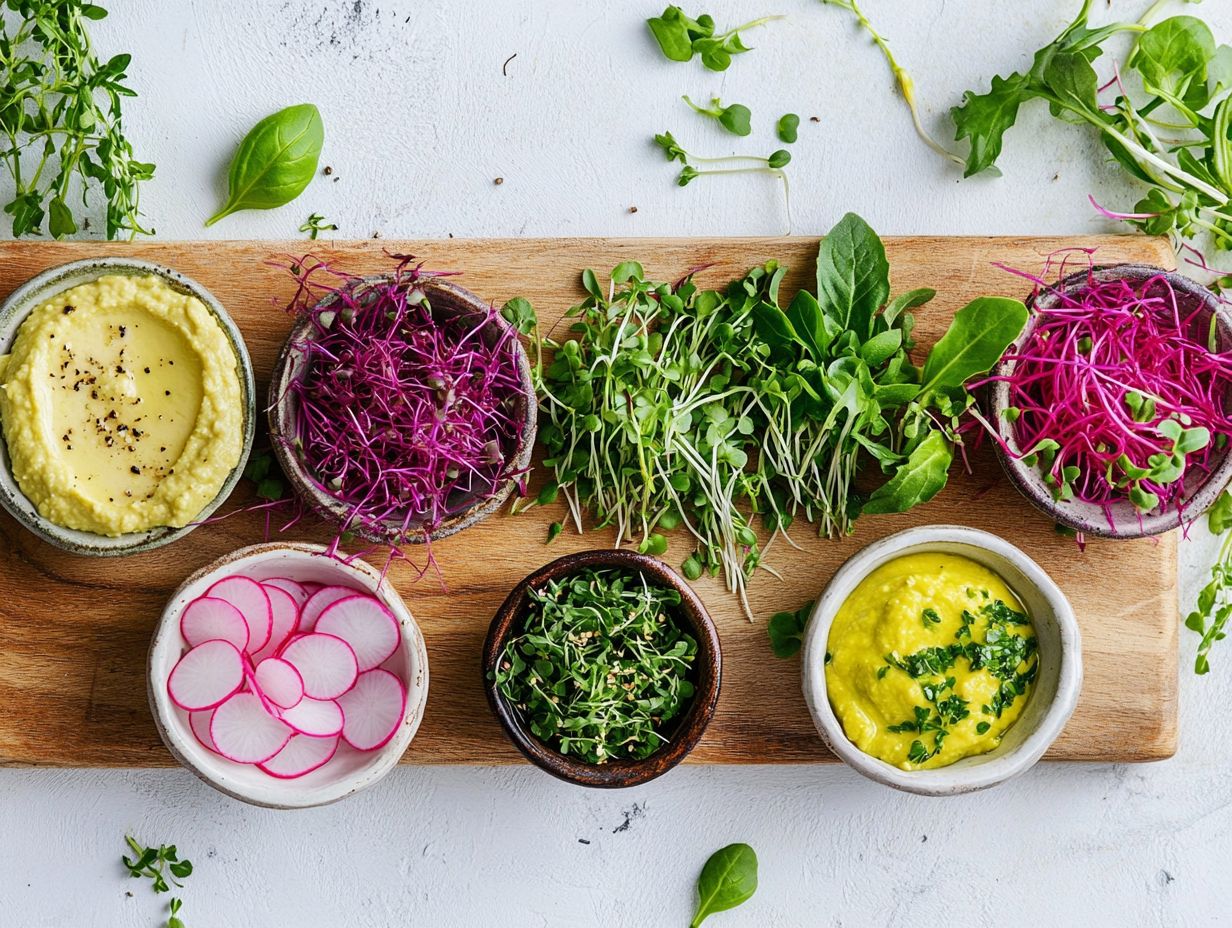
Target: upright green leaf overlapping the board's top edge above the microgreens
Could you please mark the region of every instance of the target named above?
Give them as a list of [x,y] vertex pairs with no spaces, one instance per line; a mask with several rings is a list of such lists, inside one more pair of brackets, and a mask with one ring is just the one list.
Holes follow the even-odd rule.
[[822,311],[860,341],[872,334],[873,314],[890,298],[890,263],[877,233],[848,213],[822,239],[817,299]]

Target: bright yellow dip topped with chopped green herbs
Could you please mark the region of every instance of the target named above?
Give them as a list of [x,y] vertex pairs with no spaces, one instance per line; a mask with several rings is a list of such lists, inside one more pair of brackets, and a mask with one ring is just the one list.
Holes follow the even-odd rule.
[[995,748],[1039,662],[1035,629],[1005,582],[944,553],[906,555],[870,573],[839,608],[825,659],[843,731],[904,770]]

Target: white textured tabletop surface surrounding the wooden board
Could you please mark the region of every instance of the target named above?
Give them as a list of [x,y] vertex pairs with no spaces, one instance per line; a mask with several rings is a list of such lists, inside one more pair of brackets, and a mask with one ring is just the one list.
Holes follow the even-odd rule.
[[[797,233],[846,210],[882,234],[1096,232],[1108,223],[1088,192],[1122,207],[1137,198],[1089,133],[1037,107],[1008,139],[1004,177],[960,181],[912,134],[848,16],[817,0],[707,2],[719,23],[790,17],[750,33],[756,51],[724,75],[658,55],[642,20],[659,1],[103,0],[112,16],[95,35],[103,57],[134,55],[128,134],[158,164],[144,206],[161,238],[290,238],[312,210],[345,237],[779,233],[771,180],[679,190],[649,137],[671,128],[702,154],[765,154],[787,110],[804,118],[791,165]],[[1096,7],[1133,18],[1146,5]],[[1078,2],[866,6],[947,137],[961,91],[1023,67]],[[1198,11],[1232,39],[1232,4]],[[754,137],[729,144],[681,92],[749,105]],[[235,143],[301,100],[324,115],[323,163],[338,182],[202,229]],[[1195,534],[1183,608],[1210,556],[1205,530]],[[1175,759],[1044,764],[952,800],[897,795],[840,767],[680,768],[617,794],[530,768],[404,768],[340,805],[280,813],[182,771],[0,770],[0,926],[160,924],[161,901],[118,864],[124,832],[177,842],[196,861],[182,893],[191,928],[685,926],[697,870],[733,840],[756,848],[761,886],[716,928],[1216,924],[1232,918],[1232,647],[1194,679],[1194,643],[1183,631]],[[1136,669],[1125,668],[1126,686]],[[1132,738],[1135,720],[1124,723]]]

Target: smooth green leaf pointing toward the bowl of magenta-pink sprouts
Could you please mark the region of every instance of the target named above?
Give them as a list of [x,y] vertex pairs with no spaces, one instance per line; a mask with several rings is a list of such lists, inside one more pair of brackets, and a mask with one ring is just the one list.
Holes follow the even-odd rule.
[[1026,307],[1018,299],[979,297],[954,314],[945,335],[924,361],[922,393],[954,394],[975,375],[1000,359],[1026,325]]

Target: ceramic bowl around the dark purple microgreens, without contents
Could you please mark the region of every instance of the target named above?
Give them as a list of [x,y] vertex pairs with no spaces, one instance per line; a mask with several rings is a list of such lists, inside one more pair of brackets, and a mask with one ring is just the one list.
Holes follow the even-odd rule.
[[[377,283],[388,281],[388,276],[365,277],[363,282]],[[361,283],[362,286],[362,283]],[[434,314],[442,318],[482,318],[489,313],[488,303],[468,290],[456,283],[451,283],[439,277],[425,277],[415,285],[428,295],[429,304]],[[322,306],[329,306],[334,297],[326,297]],[[349,515],[349,507],[338,502],[335,497],[326,493],[320,484],[312,479],[304,470],[303,461],[293,451],[293,441],[288,436],[296,433],[296,405],[291,394],[291,383],[304,373],[304,359],[301,346],[312,338],[312,320],[301,319],[291,329],[278,360],[274,366],[274,376],[270,380],[270,438],[274,444],[274,454],[282,465],[287,479],[299,495],[318,515],[336,523],[345,524]],[[521,382],[521,397],[515,407],[515,414],[522,421],[522,434],[510,455],[510,471],[514,473],[525,472],[531,463],[531,454],[535,450],[535,433],[538,415],[538,404],[535,398],[535,383],[531,378],[531,365],[526,357],[526,350],[517,339],[517,333],[511,332],[511,327],[500,315],[493,315],[484,330],[488,344],[494,344],[503,336],[513,338],[514,361],[517,365],[519,380]],[[452,505],[453,515],[444,519],[430,534],[421,525],[411,521],[407,532],[402,532],[402,526],[391,527],[388,532],[373,530],[367,526],[352,525],[349,531],[360,539],[378,545],[389,543],[423,543],[436,541],[455,532],[462,531],[471,525],[488,518],[498,509],[514,492],[517,479],[511,477],[500,489],[489,497],[477,497],[472,499],[460,499]]]

